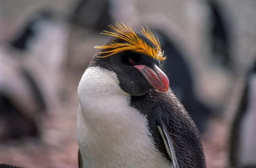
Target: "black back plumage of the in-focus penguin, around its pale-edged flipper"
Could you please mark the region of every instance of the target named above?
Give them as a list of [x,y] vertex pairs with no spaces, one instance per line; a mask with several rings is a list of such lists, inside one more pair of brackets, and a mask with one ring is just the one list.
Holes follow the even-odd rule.
[[143,96],[132,96],[130,105],[146,115],[154,143],[166,159],[170,157],[157,130],[157,117],[166,124],[180,168],[206,167],[198,129],[171,90],[163,93],[152,89]]

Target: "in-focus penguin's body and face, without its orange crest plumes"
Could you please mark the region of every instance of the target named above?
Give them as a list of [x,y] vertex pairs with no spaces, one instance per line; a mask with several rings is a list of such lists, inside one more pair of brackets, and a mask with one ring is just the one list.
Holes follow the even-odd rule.
[[[125,41],[106,45],[113,43]],[[206,167],[198,129],[160,60],[130,50],[103,55],[92,58],[78,86],[80,167]]]

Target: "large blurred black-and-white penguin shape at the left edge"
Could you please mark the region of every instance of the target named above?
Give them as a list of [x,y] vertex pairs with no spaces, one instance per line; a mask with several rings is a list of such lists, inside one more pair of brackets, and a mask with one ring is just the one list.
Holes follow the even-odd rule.
[[40,114],[59,104],[67,27],[51,12],[36,12],[0,46],[0,140],[40,135]]

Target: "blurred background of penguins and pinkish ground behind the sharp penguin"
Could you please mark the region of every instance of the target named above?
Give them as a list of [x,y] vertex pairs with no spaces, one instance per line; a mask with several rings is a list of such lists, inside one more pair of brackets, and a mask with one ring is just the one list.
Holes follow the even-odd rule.
[[0,1],[0,163],[77,167],[76,88],[115,21],[147,24],[209,168],[256,167],[256,1]]

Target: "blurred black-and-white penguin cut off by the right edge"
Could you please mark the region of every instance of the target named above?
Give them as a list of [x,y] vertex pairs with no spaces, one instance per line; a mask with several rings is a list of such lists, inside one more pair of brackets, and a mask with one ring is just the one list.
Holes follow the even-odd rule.
[[[256,59],[255,59],[256,60]],[[232,167],[256,167],[256,61],[247,72],[230,131],[229,161]]]

